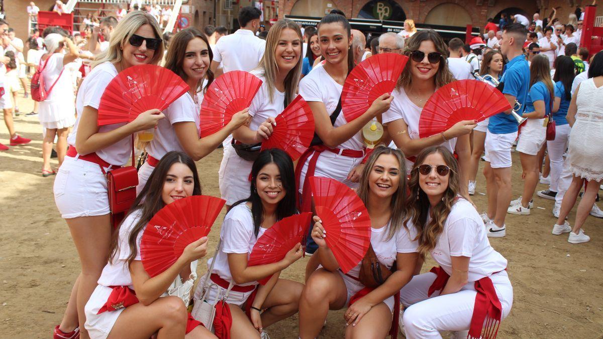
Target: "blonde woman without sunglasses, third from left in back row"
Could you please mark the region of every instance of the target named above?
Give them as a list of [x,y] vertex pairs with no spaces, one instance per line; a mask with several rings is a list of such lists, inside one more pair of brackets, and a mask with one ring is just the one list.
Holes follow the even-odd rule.
[[[274,117],[283,112],[297,95],[301,74],[303,37],[294,21],[281,19],[268,31],[266,52],[257,69],[251,71],[262,80],[249,106],[250,121],[233,131],[235,146],[259,144],[270,138]],[[219,170],[222,198],[228,206],[249,197],[249,173],[253,158],[247,160],[235,150],[224,154]]]

